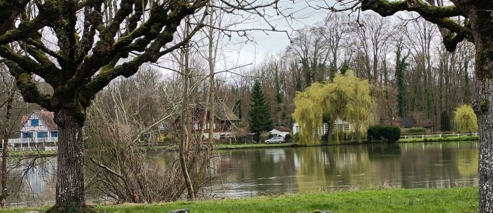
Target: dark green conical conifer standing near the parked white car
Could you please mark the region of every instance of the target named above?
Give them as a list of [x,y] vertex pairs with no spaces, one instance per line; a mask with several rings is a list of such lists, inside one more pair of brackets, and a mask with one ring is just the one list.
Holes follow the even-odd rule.
[[272,119],[266,95],[263,94],[262,85],[257,80],[252,88],[250,98],[252,104],[248,111],[250,130],[252,132],[262,132],[272,130]]

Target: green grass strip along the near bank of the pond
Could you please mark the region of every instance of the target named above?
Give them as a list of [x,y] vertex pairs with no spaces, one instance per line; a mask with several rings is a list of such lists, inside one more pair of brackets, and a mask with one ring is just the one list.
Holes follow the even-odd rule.
[[[477,212],[478,188],[451,189],[379,189],[317,192],[276,197],[225,199],[159,204],[123,204],[98,206],[113,213],[162,213],[189,208],[192,213],[313,212],[316,209],[343,212]],[[34,209],[45,210],[46,208]],[[5,209],[0,213],[28,209]],[[29,209],[33,210],[33,209]]]

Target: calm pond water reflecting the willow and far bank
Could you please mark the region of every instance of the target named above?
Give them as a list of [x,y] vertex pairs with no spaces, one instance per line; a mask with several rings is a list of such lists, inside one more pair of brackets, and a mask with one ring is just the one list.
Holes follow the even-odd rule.
[[[152,153],[157,158],[151,159],[166,161],[170,154]],[[478,185],[477,142],[235,149],[220,150],[219,154],[212,164],[215,178],[210,186],[217,197],[378,185],[398,188]],[[9,197],[10,206],[52,202],[55,170],[56,158],[28,170],[23,184],[12,184],[21,186]]]

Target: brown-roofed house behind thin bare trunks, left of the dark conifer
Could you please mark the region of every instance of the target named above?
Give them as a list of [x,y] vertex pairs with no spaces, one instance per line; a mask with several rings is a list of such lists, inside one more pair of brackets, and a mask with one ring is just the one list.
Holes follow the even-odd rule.
[[[205,124],[203,124],[204,113]],[[192,126],[192,133],[200,133],[202,129],[204,129],[204,138],[207,139],[209,137],[208,129],[210,125],[210,111],[206,110],[203,106],[198,106],[193,109],[192,113],[192,121],[187,125]],[[217,103],[217,106],[214,109],[214,123],[213,123],[213,135],[214,139],[219,139],[221,137],[228,137],[233,135],[233,132],[237,129],[238,123],[241,120],[236,116],[232,109],[227,108],[223,103]],[[181,119],[178,117],[175,120],[175,127],[178,131],[180,131],[180,123]]]

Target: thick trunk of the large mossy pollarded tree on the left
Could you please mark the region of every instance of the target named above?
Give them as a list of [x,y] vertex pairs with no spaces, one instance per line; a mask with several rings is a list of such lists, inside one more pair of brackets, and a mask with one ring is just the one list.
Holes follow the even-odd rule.
[[58,172],[55,206],[49,212],[87,212],[84,210],[84,149],[82,126],[69,110],[55,112],[58,125]]

